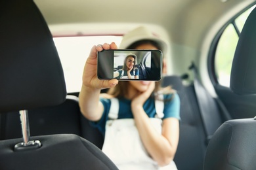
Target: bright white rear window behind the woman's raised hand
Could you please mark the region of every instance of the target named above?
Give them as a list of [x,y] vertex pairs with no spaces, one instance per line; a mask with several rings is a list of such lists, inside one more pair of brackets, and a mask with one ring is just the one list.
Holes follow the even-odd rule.
[[93,45],[116,42],[119,46],[122,36],[54,37],[54,43],[62,63],[67,92],[79,92],[85,61]]

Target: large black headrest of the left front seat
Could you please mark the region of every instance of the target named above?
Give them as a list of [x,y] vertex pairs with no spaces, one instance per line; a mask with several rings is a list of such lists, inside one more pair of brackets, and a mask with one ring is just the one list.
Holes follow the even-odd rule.
[[0,25],[0,112],[62,103],[62,66],[35,3],[1,1]]

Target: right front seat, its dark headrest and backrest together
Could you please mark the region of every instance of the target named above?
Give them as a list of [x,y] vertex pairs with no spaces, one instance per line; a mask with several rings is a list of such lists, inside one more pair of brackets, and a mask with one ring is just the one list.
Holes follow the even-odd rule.
[[[256,93],[256,9],[247,18],[232,63],[230,88],[238,95]],[[203,169],[255,169],[256,120],[228,120],[213,135]]]

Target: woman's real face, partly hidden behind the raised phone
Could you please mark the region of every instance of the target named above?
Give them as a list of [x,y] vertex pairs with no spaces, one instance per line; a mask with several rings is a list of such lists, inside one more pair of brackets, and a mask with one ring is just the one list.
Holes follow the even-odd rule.
[[[158,50],[156,46],[152,44],[140,44],[136,48],[137,50]],[[149,81],[129,81],[130,85],[133,86],[139,92],[145,92],[150,84]]]

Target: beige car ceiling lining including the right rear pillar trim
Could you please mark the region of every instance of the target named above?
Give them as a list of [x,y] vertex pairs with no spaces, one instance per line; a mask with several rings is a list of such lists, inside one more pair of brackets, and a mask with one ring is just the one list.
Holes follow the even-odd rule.
[[168,73],[182,75],[191,61],[211,84],[206,58],[216,33],[255,0],[35,0],[53,36],[123,35],[148,25],[170,45]]

